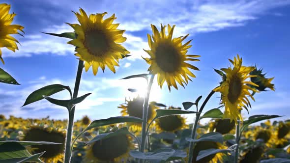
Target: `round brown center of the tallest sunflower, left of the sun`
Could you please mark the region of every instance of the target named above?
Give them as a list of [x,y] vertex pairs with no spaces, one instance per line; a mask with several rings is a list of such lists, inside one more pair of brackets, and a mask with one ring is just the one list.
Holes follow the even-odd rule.
[[85,32],[85,47],[94,56],[103,56],[111,48],[111,39],[104,30],[88,29]]

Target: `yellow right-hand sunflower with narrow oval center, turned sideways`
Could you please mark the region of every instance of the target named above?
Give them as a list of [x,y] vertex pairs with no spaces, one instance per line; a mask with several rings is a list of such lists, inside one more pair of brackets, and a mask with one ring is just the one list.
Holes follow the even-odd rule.
[[[221,83],[221,85],[213,91],[221,92],[221,103],[225,105],[225,118],[230,118],[231,121],[234,120],[237,123],[237,119],[241,121],[242,116],[240,111],[242,108],[247,109],[248,106],[251,107],[250,101],[247,98],[247,95],[255,101],[254,97],[251,95],[249,90],[253,92],[259,92],[255,88],[248,86],[257,84],[246,81],[247,78],[254,77],[253,75],[249,75],[251,71],[255,69],[255,67],[246,67],[242,66],[242,58],[237,55],[234,57],[232,61],[229,59],[233,65],[229,68],[222,68],[221,70],[226,73],[226,80]],[[247,109],[248,110],[248,109]]]

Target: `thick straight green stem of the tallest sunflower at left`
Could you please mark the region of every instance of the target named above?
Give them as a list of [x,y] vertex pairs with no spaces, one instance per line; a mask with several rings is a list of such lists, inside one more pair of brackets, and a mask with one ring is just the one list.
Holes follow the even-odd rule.
[[[77,72],[77,77],[76,77],[76,82],[75,82],[75,87],[74,87],[73,98],[78,97],[83,68],[84,68],[84,61],[79,60],[78,72]],[[73,134],[73,126],[74,126],[75,106],[68,109],[68,115],[69,116],[68,116],[68,126],[67,126],[67,134],[66,134],[66,143],[65,143],[64,163],[70,163],[70,159],[71,159],[70,148],[71,148],[71,138],[72,138],[72,134]]]

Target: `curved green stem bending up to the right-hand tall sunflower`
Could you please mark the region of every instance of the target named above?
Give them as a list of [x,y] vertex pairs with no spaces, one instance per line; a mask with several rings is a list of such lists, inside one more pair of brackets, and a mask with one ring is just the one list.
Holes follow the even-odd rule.
[[[199,113],[196,114],[196,118],[195,118],[194,126],[193,126],[192,131],[191,131],[191,138],[192,138],[192,139],[195,139],[195,138],[196,138],[196,130],[197,130],[197,126],[198,126],[198,123],[199,123],[199,119],[200,119],[201,113],[202,113],[203,108],[205,107],[206,103],[207,103],[208,100],[210,99],[210,97],[214,94],[214,92],[215,92],[215,91],[211,91],[211,92],[207,95],[206,99],[205,99],[204,102],[203,102],[202,107],[201,107],[200,110],[199,110]],[[193,155],[194,146],[195,146],[195,142],[190,142],[190,143],[189,143],[188,163],[192,163],[192,155]]]

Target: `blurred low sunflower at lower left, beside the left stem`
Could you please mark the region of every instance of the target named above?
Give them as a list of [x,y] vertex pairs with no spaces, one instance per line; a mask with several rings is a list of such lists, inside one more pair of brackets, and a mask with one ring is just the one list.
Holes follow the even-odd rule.
[[57,130],[53,127],[32,126],[29,130],[24,132],[21,139],[23,141],[48,141],[61,143],[56,145],[32,145],[30,150],[33,154],[45,151],[40,159],[46,163],[62,163],[64,158],[65,137],[64,130]]

